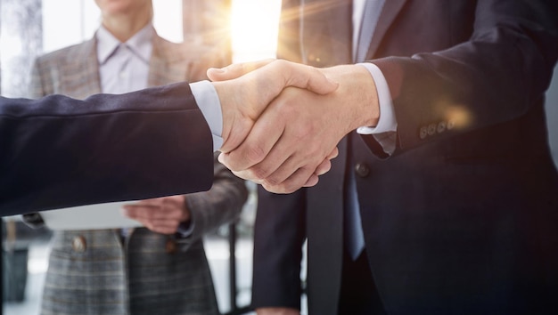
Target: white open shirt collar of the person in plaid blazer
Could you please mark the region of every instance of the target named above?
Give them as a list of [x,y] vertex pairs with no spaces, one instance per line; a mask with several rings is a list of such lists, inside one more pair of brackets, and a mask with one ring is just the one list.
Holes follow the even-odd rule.
[[[130,37],[125,44],[132,52],[140,57],[143,61],[149,62],[152,54],[152,38],[155,29],[152,24],[147,24],[140,29],[134,36]],[[97,39],[97,59],[100,65],[103,65],[119,47],[120,41],[104,28],[103,25],[95,32]]]

